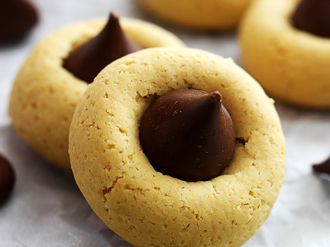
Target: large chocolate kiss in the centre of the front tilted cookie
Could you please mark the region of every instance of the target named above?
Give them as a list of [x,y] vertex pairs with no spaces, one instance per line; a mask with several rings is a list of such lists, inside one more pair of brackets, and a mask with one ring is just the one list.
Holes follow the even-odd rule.
[[218,91],[181,89],[148,107],[140,139],[151,165],[162,174],[185,181],[209,180],[231,160],[235,129]]

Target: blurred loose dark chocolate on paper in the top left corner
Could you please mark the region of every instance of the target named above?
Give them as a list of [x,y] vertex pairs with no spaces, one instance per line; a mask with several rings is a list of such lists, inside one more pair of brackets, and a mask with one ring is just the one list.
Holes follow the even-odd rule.
[[37,22],[37,10],[29,1],[0,1],[0,41],[25,35]]

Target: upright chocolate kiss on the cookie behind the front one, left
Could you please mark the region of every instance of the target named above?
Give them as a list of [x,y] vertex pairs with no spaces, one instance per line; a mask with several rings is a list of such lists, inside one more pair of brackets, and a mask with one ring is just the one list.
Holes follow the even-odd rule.
[[112,61],[140,50],[124,34],[118,17],[111,13],[103,30],[92,40],[82,44],[64,60],[63,67],[89,83]]

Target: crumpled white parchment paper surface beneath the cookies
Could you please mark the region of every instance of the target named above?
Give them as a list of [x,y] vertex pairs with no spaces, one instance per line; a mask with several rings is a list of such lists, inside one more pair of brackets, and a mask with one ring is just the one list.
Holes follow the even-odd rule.
[[[32,47],[52,30],[78,20],[120,16],[155,22],[188,46],[239,60],[234,33],[206,34],[168,26],[148,16],[133,0],[35,0],[40,22],[21,42],[0,46],[0,153],[13,164],[17,182],[0,207],[0,247],[126,247],[91,210],[72,174],[52,167],[15,134],[7,113],[15,74]],[[276,103],[287,142],[286,178],[272,213],[244,247],[330,246],[330,181],[312,164],[330,155],[330,112]]]

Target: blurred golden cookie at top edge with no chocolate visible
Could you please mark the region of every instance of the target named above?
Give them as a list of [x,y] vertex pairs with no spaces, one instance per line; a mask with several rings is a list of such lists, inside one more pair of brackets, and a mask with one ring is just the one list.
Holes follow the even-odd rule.
[[229,30],[254,0],[138,0],[150,14],[169,23],[201,30]]

